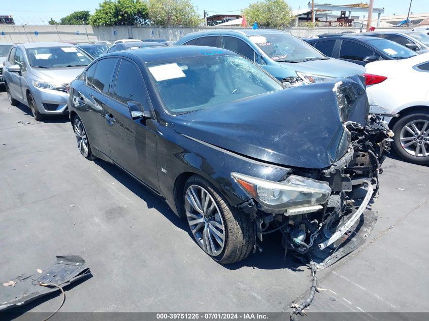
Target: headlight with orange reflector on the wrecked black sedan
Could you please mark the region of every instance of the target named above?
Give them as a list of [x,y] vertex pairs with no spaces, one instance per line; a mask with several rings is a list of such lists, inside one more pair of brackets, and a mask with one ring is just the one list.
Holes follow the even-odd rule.
[[272,213],[281,213],[298,206],[323,204],[331,195],[331,188],[323,182],[290,175],[282,182],[272,182],[231,173],[237,183],[263,208]]

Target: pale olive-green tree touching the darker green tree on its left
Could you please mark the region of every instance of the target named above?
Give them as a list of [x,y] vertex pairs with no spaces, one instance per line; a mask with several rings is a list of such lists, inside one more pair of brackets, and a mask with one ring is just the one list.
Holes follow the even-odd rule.
[[155,25],[194,27],[202,22],[189,0],[149,0],[148,7]]

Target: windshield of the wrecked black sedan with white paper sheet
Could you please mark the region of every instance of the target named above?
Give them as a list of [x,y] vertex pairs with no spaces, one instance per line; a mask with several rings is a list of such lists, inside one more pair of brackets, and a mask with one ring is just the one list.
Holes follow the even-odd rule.
[[237,54],[163,60],[148,67],[164,105],[172,114],[284,89],[277,80]]

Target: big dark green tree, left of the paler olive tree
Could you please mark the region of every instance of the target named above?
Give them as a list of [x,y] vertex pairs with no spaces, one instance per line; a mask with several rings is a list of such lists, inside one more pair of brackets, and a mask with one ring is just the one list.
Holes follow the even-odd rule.
[[89,18],[89,24],[95,27],[147,23],[148,8],[141,0],[104,0]]

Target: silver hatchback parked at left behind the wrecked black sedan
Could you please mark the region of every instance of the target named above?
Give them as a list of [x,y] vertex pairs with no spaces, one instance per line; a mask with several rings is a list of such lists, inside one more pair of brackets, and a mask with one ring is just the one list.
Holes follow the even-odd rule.
[[27,43],[15,45],[5,61],[9,102],[23,103],[34,118],[67,114],[67,86],[93,59],[74,45]]

